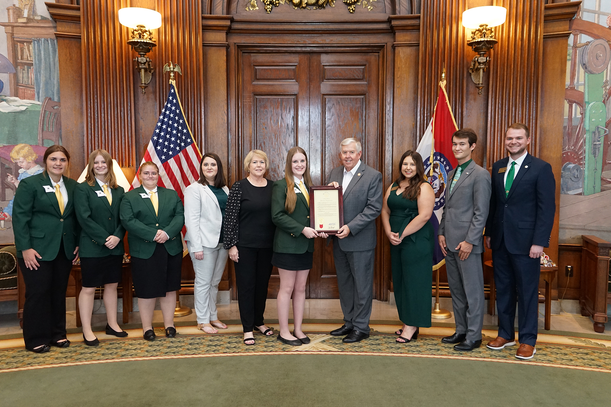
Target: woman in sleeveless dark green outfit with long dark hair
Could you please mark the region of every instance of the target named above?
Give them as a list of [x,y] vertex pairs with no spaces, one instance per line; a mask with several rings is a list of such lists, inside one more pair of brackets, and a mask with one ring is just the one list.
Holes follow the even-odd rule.
[[409,150],[399,161],[399,177],[386,191],[382,224],[390,240],[395,301],[403,328],[397,343],[417,339],[419,327],[431,326],[433,215],[435,193],[426,182],[422,157]]

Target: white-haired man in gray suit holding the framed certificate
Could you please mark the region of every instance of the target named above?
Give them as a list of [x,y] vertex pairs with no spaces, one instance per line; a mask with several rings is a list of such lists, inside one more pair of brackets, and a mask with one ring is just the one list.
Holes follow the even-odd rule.
[[342,328],[331,335],[353,343],[369,337],[373,301],[375,219],[382,211],[382,174],[361,163],[362,147],[354,138],[340,143],[343,166],[334,168],[329,185],[342,186],[344,226],[333,237],[333,259],[344,315]]

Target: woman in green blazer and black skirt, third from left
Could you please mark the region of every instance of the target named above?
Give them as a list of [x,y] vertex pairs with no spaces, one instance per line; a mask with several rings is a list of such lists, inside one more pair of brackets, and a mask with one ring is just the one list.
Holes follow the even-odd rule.
[[138,297],[144,339],[155,339],[153,310],[159,298],[166,337],[176,336],[174,309],[180,290],[185,225],[183,202],[174,189],[157,186],[157,164],[147,161],[138,171],[141,186],[125,193],[120,216],[128,232],[131,276]]

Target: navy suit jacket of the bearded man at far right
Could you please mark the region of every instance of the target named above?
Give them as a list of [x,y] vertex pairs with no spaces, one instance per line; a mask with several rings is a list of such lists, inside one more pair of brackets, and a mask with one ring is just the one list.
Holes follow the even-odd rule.
[[[505,197],[505,172],[509,157],[492,165],[492,194],[484,235],[497,250],[505,238],[511,254],[530,254],[530,246],[549,247],[556,211],[556,182],[552,166],[526,154]],[[507,169],[508,171],[509,169]]]

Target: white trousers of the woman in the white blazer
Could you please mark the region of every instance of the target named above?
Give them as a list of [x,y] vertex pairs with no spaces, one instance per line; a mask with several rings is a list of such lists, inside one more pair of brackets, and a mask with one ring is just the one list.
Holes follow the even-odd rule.
[[218,319],[216,313],[216,296],[219,292],[219,282],[225,270],[229,251],[219,243],[216,248],[203,248],[203,260],[196,260],[191,244],[187,242],[189,255],[195,270],[194,299],[197,323],[208,324]]

